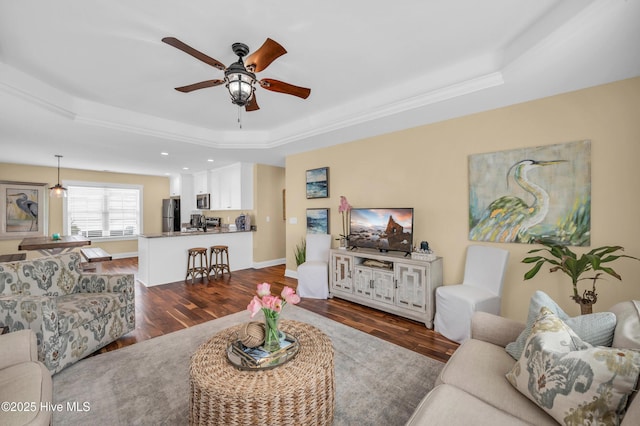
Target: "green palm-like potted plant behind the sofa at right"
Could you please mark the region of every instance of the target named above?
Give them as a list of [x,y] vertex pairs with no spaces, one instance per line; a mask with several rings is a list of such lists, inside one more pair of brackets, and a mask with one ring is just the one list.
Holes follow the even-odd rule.
[[[534,263],[533,267],[524,274],[524,279],[528,280],[536,276],[542,265],[549,263],[552,267],[549,272],[562,271],[571,278],[573,284],[573,295],[571,298],[580,305],[580,312],[584,314],[590,314],[593,312],[593,304],[598,300],[598,294],[596,293],[596,281],[602,276],[603,273],[611,275],[619,280],[622,280],[620,274],[613,270],[610,266],[606,266],[610,262],[617,260],[621,257],[629,259],[640,260],[633,256],[626,254],[616,254],[619,251],[623,251],[621,246],[603,246],[594,248],[588,253],[584,253],[578,258],[576,253],[571,251],[569,247],[556,244],[548,241],[538,241],[544,248],[529,250],[528,253],[547,252],[546,254],[526,257],[522,260],[522,263]],[[582,274],[588,271],[600,271],[592,277],[582,277]],[[593,285],[591,290],[585,290],[582,295],[578,293],[578,281],[580,280],[592,280]]]

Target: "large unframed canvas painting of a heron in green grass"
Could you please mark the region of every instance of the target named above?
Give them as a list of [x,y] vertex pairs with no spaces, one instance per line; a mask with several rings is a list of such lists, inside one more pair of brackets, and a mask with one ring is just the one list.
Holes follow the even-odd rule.
[[470,155],[469,239],[589,245],[591,141]]

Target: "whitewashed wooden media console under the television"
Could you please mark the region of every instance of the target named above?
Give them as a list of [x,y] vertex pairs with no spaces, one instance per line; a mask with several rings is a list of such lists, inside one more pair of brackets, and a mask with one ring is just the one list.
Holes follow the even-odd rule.
[[330,294],[433,328],[435,290],[442,285],[442,258],[416,260],[404,253],[331,250]]

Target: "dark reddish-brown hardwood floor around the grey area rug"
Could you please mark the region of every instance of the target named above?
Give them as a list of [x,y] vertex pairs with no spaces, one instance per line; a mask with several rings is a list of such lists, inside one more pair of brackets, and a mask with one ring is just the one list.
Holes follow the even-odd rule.
[[[231,276],[225,274],[217,280],[203,282],[197,279],[195,284],[189,280],[145,287],[136,282],[136,329],[98,352],[108,352],[245,310],[258,283],[271,283],[272,292],[276,294],[285,285],[296,288],[297,280],[285,277],[284,269],[284,265],[246,269],[235,271]],[[138,259],[103,262],[102,271],[137,274]],[[443,362],[458,348],[457,343],[422,323],[342,299],[302,299],[298,306]]]

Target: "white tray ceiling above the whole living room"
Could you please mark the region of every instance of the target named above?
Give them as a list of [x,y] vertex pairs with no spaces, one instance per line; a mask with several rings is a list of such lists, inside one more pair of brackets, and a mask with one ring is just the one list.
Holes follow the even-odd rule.
[[[286,155],[640,75],[640,1],[0,0],[0,162],[164,175]],[[261,109],[222,72],[270,37]],[[168,152],[161,156],[160,152]],[[208,159],[215,160],[213,163]]]

